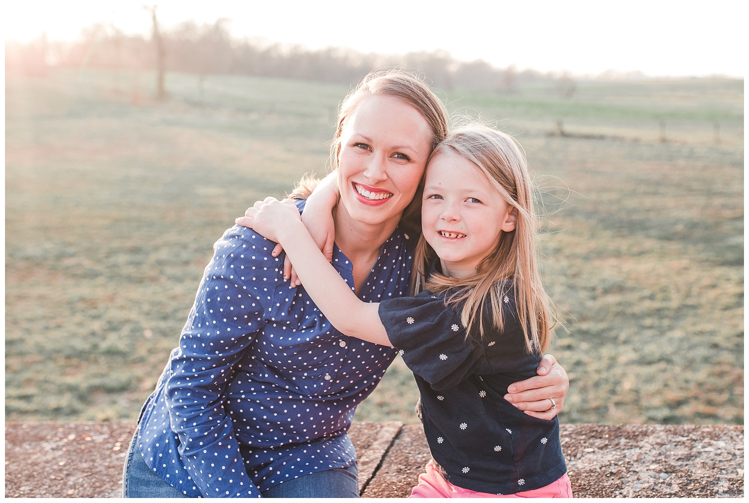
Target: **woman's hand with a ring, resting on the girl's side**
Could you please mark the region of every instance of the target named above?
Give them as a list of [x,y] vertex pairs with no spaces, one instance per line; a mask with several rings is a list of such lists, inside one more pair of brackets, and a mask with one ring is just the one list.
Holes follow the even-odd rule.
[[539,375],[509,385],[505,400],[534,418],[554,419],[564,406],[569,378],[553,355],[544,355],[536,373]]

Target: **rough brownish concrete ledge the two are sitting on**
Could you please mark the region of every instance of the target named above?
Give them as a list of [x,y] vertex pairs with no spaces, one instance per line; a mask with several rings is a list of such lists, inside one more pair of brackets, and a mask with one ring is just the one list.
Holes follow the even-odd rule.
[[[5,496],[119,497],[135,424],[5,424]],[[354,423],[363,497],[404,498],[429,460],[420,425]],[[744,427],[567,424],[577,497],[743,497]]]

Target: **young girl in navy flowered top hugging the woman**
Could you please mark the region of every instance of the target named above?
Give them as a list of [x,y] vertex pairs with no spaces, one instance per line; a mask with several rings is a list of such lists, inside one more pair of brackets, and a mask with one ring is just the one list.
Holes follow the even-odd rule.
[[360,301],[291,205],[269,198],[247,216],[282,245],[334,327],[395,347],[413,370],[433,460],[412,497],[571,497],[557,418],[533,418],[503,399],[512,382],[533,376],[553,326],[536,265],[532,183],[511,136],[463,127],[429,157],[413,298]]

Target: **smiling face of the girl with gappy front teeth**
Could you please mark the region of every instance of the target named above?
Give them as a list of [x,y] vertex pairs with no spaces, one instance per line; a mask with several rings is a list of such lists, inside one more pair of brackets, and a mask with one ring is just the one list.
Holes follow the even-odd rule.
[[426,171],[422,232],[443,274],[467,278],[492,253],[501,232],[515,230],[516,211],[470,160],[454,151],[432,157]]

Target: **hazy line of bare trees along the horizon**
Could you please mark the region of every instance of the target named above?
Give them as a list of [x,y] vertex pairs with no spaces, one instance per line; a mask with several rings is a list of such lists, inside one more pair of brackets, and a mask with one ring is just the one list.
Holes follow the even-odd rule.
[[48,42],[43,37],[27,44],[6,43],[6,71],[42,74],[49,65],[151,70],[158,64],[158,40],[167,71],[198,75],[273,76],[351,85],[372,68],[401,66],[424,73],[437,88],[477,91],[512,91],[518,82],[554,78],[533,70],[499,69],[482,60],[457,61],[445,51],[380,55],[238,40],[229,34],[227,19],[206,25],[187,21],[148,38],[98,24],[85,29],[81,40],[73,43]]

